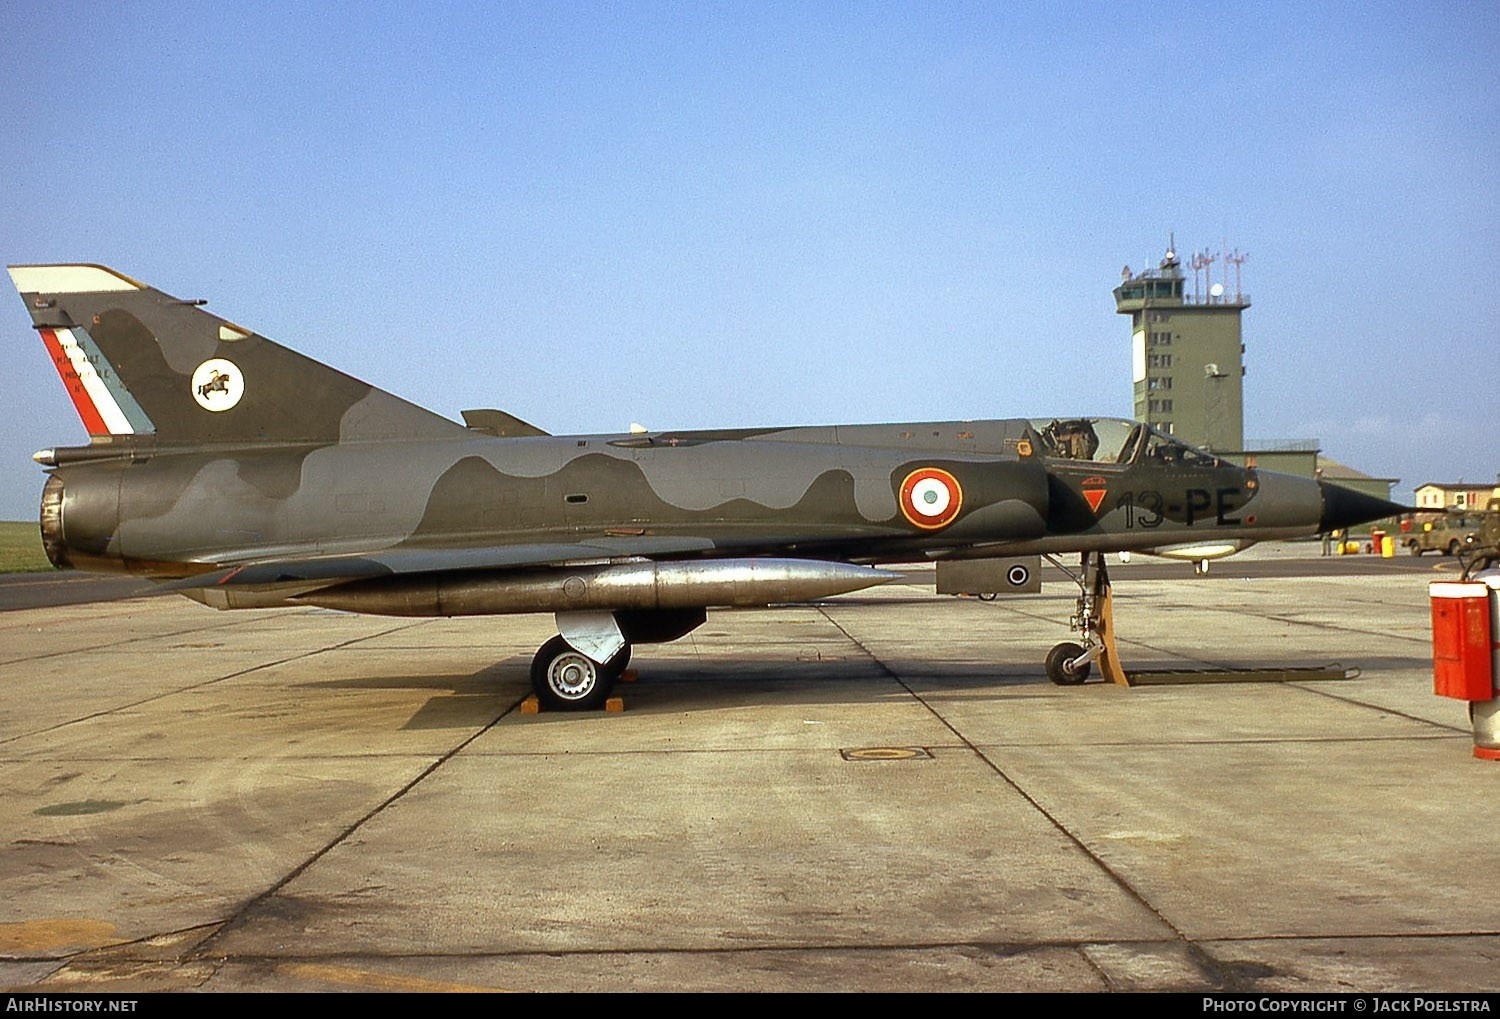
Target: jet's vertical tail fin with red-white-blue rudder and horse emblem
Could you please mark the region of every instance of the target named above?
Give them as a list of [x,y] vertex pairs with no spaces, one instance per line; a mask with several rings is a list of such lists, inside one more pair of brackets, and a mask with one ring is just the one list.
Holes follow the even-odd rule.
[[104,266],[10,266],[94,441],[338,443],[462,435],[456,422]]

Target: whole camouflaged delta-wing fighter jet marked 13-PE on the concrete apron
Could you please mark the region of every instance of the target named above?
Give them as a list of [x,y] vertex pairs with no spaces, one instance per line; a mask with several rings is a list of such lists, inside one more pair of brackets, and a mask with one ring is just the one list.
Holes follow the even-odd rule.
[[1046,669],[1082,683],[1106,651],[1104,552],[1233,551],[1401,510],[1107,417],[459,425],[112,269],[10,278],[90,437],[36,453],[54,564],[224,609],[554,612],[531,668],[549,708],[600,707],[634,644],[684,636],[710,608],[900,576],[882,564],[1065,552],[1082,644]]

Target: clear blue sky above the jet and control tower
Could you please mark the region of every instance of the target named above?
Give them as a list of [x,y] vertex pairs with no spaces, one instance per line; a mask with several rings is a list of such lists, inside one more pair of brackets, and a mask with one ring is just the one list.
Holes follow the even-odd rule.
[[[1500,470],[1494,3],[6,11],[0,260],[453,417],[1128,416],[1110,291],[1174,233],[1248,252],[1246,437],[1401,498]],[[84,432],[9,300],[28,519],[30,453]]]

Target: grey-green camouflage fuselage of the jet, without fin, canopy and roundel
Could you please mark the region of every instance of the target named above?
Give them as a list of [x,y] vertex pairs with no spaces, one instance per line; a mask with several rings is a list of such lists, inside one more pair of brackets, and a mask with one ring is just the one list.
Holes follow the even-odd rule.
[[[1260,540],[1317,524],[1311,482],[1017,453],[1029,434],[1010,420],[226,447],[63,465],[56,485],[68,560],[159,576],[444,549],[488,566],[744,554],[879,563]],[[924,468],[958,485],[962,506],[940,527],[902,509],[903,482]],[[1086,486],[1102,488],[1096,509]]]

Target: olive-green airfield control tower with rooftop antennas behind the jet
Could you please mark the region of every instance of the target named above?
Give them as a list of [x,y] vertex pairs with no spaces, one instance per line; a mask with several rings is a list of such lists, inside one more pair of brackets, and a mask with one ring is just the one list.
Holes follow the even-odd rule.
[[[1234,266],[1233,293],[1212,281],[1212,266]],[[1239,252],[1196,254],[1192,291],[1178,252],[1156,269],[1122,272],[1114,311],[1130,315],[1136,419],[1218,453],[1245,447],[1245,345],[1239,315],[1250,294],[1239,290]]]

